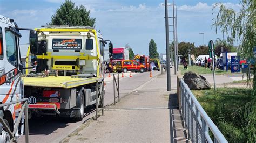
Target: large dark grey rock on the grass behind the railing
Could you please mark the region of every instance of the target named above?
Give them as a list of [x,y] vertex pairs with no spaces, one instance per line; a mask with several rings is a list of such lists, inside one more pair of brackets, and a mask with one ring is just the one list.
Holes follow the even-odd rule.
[[205,79],[205,77],[193,73],[187,72],[183,76],[184,82],[188,85],[191,90],[200,90],[200,89],[210,89],[210,83]]

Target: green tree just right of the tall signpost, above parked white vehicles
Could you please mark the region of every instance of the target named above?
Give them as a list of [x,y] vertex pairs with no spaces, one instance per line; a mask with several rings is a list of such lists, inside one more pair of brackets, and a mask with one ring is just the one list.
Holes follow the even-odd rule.
[[226,40],[217,39],[215,41],[215,54],[220,56],[221,54],[221,47],[223,47],[223,52],[237,52],[237,49],[234,48],[231,44],[228,44]]

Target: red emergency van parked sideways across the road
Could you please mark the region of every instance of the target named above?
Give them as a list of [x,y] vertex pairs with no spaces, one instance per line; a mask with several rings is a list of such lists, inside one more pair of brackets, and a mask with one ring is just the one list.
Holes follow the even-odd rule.
[[134,71],[143,73],[145,71],[145,66],[135,60],[123,60],[117,62],[117,71],[121,73],[127,73],[127,71]]

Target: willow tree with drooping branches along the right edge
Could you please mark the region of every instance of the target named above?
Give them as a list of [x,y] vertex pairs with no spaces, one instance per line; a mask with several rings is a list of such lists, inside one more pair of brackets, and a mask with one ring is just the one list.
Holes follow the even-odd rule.
[[[240,5],[240,10],[235,11],[226,8],[222,3],[215,4],[213,9],[219,9],[219,12],[212,26],[216,28],[216,32],[221,30],[223,34],[227,34],[228,42],[239,42],[241,58],[246,58],[250,62],[254,61],[252,99],[239,111],[241,117],[245,119],[244,131],[247,134],[247,142],[256,142],[256,59],[253,55],[253,47],[256,46],[256,1],[240,0]],[[250,76],[247,74],[247,77]]]

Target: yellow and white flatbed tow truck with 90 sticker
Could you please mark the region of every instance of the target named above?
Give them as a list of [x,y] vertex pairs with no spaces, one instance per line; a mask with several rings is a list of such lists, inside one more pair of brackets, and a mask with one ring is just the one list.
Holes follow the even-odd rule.
[[[30,115],[58,115],[82,120],[104,88],[104,46],[88,26],[42,26],[30,31],[24,97]],[[109,44],[112,53],[112,43]],[[96,83],[99,83],[97,89]]]

